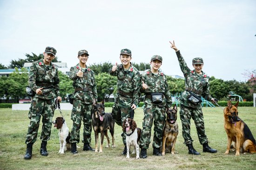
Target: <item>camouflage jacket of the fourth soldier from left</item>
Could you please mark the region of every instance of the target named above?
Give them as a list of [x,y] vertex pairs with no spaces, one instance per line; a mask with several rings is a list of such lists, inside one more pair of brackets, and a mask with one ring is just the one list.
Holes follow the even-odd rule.
[[148,85],[147,89],[142,89],[142,93],[152,93],[152,92],[161,92],[164,94],[163,102],[161,104],[154,104],[150,98],[145,98],[144,103],[149,105],[158,105],[158,106],[166,106],[167,108],[171,108],[172,106],[172,98],[171,93],[169,91],[169,86],[167,84],[166,76],[162,72],[158,72],[158,75],[154,75],[149,69],[147,72],[143,72],[141,74],[141,81]]

